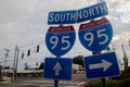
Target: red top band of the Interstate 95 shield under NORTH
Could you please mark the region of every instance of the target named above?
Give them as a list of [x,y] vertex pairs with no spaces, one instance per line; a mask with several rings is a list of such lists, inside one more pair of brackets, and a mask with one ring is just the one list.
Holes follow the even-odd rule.
[[98,21],[92,21],[92,22],[89,22],[86,24],[81,24],[79,29],[91,28],[91,27],[95,27],[95,26],[106,24],[106,23],[108,23],[108,20],[103,17],[103,18],[98,20]]

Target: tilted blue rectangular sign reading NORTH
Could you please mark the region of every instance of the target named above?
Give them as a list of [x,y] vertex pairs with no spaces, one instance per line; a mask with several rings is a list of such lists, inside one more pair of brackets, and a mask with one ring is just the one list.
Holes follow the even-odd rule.
[[106,3],[103,1],[101,3],[78,10],[77,23],[89,21],[107,14],[108,14],[107,7]]

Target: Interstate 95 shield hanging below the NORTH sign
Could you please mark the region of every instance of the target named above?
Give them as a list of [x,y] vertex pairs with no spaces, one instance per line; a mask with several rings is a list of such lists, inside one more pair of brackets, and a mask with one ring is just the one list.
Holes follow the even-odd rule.
[[79,27],[79,40],[84,48],[93,52],[104,50],[112,40],[113,27],[107,18],[81,24]]

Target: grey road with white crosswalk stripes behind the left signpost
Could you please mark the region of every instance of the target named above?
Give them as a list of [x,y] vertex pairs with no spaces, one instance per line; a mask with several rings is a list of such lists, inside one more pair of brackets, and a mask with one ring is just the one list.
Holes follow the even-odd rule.
[[[58,80],[58,87],[81,87],[87,82],[84,74],[73,74],[72,80]],[[17,77],[15,84],[4,84],[0,87],[54,87],[53,79],[43,77]]]

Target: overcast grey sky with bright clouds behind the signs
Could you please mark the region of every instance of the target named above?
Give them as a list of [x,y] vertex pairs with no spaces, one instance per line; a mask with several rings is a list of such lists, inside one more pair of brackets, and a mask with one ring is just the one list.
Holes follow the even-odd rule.
[[[113,41],[116,47],[118,60],[122,58],[120,44],[130,57],[130,0],[105,0],[108,8],[106,17],[110,21],[114,30]],[[14,49],[20,49],[18,69],[23,69],[25,62],[31,67],[36,62],[40,63],[47,57],[54,57],[46,47],[46,34],[51,25],[48,25],[48,14],[51,11],[79,10],[92,4],[98,0],[0,0],[0,60],[4,60],[4,49],[10,49],[6,65],[13,64]],[[74,24],[76,34],[80,24]],[[40,51],[35,52],[35,47],[40,45]],[[30,57],[21,59],[21,53],[27,53],[30,49]],[[90,55],[91,52],[81,46],[78,36],[73,49],[65,58],[76,55]],[[130,59],[129,59],[130,60]],[[1,63],[3,64],[3,63]]]

